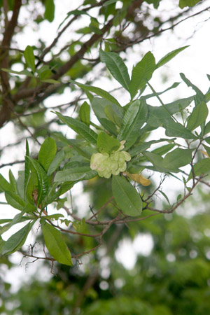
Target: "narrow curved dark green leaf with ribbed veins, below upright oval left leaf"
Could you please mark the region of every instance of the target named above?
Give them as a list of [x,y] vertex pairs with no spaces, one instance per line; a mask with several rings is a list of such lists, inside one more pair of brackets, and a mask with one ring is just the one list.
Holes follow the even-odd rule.
[[39,205],[41,201],[45,198],[45,196],[48,195],[48,176],[36,160],[29,158],[29,156],[27,156],[26,158],[31,162],[31,165],[36,171],[38,181],[37,205]]

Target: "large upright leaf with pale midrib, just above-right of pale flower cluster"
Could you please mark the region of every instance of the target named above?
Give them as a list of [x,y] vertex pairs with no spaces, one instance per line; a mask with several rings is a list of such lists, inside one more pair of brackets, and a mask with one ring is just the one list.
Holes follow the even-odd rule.
[[138,99],[129,106],[123,117],[123,125],[119,131],[118,139],[125,140],[125,150],[130,148],[139,137],[139,130],[147,119],[147,106]]

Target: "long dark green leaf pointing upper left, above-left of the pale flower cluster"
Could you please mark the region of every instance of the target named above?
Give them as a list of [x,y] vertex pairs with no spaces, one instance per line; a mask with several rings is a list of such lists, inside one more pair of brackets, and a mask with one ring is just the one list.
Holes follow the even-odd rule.
[[72,130],[74,130],[77,134],[80,134],[87,142],[90,144],[97,144],[97,134],[90,129],[87,125],[82,123],[79,120],[68,116],[62,116],[62,114],[56,112],[57,116],[60,120],[62,120],[66,125],[68,125]]

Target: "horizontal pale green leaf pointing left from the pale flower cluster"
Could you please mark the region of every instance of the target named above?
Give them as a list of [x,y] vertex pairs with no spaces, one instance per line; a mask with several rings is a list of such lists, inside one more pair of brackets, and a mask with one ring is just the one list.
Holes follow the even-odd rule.
[[94,176],[97,176],[97,172],[92,171],[90,166],[73,167],[57,172],[54,181],[79,181],[81,179],[92,179]]

